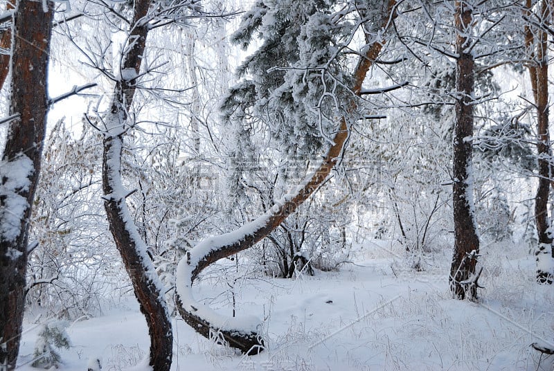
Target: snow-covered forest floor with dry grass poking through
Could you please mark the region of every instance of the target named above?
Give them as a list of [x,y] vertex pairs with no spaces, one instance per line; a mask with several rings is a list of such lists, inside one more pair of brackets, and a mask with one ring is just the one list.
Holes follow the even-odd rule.
[[[418,272],[401,246],[370,241],[339,271],[240,280],[237,314],[264,318],[267,350],[241,356],[177,317],[172,370],[552,370],[554,356],[540,357],[530,344],[554,346],[553,287],[535,284],[527,248],[483,246],[479,302],[450,297],[451,253],[426,257]],[[206,278],[197,298],[215,298],[212,307],[231,314],[227,283]],[[37,370],[28,363],[36,316],[26,316],[22,371]],[[130,294],[68,333],[72,346],[60,352],[60,370],[87,370],[91,357],[101,357],[103,371],[126,370],[148,353],[145,321]]]

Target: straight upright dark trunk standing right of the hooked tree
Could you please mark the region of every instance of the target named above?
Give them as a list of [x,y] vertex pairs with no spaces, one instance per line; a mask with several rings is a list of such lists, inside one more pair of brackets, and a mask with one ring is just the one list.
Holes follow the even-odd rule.
[[458,299],[475,299],[477,282],[474,277],[479,236],[474,216],[472,141],[474,58],[471,44],[472,6],[456,1],[454,24],[456,38],[456,122],[454,123],[454,257],[450,268],[450,289]]

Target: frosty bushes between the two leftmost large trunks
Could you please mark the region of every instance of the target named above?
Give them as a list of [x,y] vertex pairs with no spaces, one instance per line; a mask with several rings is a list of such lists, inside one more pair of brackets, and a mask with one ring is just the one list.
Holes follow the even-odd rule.
[[37,245],[29,257],[27,300],[55,316],[100,314],[109,292],[124,286],[101,210],[99,143],[91,127],[74,138],[63,122],[46,141],[31,218],[30,240]]

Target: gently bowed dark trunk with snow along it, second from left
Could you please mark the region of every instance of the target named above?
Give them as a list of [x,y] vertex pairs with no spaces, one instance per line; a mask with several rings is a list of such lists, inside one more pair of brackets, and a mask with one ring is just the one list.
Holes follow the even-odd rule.
[[109,230],[131,278],[134,293],[139,300],[150,334],[150,365],[156,371],[170,370],[173,334],[163,284],[147,253],[147,247],[130,216],[121,181],[121,152],[123,136],[129,123],[127,112],[132,105],[137,76],[145,53],[149,0],[134,2],[134,17],[128,45],[121,65],[122,78],[116,83],[114,98],[105,123],[102,156],[102,189]]

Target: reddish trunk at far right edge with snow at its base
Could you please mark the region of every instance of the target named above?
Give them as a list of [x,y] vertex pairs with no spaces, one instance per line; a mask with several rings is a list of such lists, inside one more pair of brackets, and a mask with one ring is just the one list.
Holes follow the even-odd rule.
[[[531,0],[526,0],[526,16],[531,14]],[[537,18],[547,22],[551,10],[546,0],[540,2]],[[539,246],[535,250],[537,257],[537,282],[552,283],[552,242],[548,232],[551,221],[548,218],[548,194],[550,193],[551,147],[548,134],[548,35],[545,30],[525,27],[525,41],[530,64],[528,66],[531,89],[537,111],[537,154],[539,159],[539,185],[535,196],[535,222]]]

